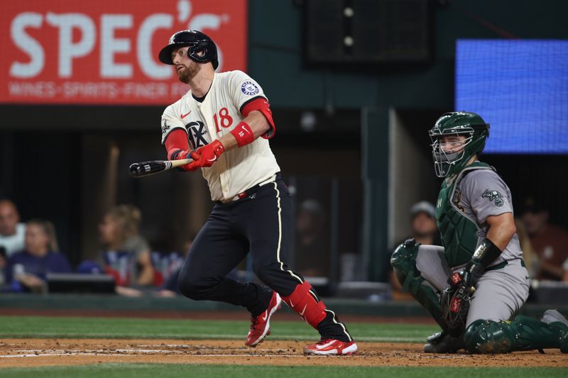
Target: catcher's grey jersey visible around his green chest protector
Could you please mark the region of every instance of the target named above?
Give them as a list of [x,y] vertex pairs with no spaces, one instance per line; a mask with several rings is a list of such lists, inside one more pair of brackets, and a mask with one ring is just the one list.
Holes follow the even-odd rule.
[[[452,202],[478,227],[478,242],[486,237],[488,216],[513,213],[513,199],[503,179],[493,169],[475,169],[457,184]],[[493,262],[523,257],[518,235],[515,233],[501,255]]]

